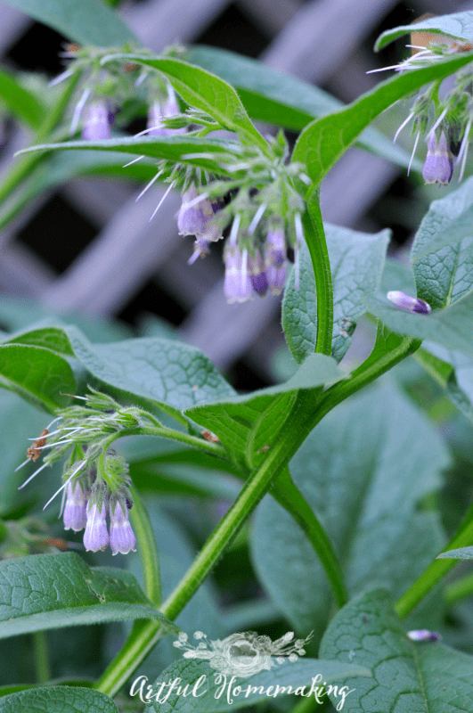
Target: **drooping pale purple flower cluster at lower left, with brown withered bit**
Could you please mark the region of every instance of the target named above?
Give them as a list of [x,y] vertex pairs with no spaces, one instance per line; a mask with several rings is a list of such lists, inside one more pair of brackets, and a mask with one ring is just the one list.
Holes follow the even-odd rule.
[[[17,470],[48,451],[43,465],[21,488],[47,465],[67,456],[61,488],[45,507],[62,491],[64,528],[75,532],[85,529],[86,550],[97,552],[110,545],[112,554],[126,554],[135,551],[136,545],[128,519],[133,504],[131,480],[127,463],[110,444],[134,429],[155,426],[156,420],[142,409],[124,408],[106,394],[89,389],[87,397],[76,397],[85,401],[84,406],[62,409],[37,438],[31,438],[34,443],[28,449],[28,458]],[[53,423],[56,428],[50,432]]]

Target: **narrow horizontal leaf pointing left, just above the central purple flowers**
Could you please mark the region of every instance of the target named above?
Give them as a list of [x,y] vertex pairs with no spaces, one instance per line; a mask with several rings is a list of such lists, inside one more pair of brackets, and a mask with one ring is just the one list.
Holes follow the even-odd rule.
[[[236,144],[238,145],[238,144]],[[217,157],[219,153],[232,150],[234,142],[219,139],[198,139],[192,136],[120,136],[118,139],[106,139],[103,141],[65,141],[61,143],[38,143],[37,146],[29,146],[18,152],[29,153],[32,151],[66,151],[70,149],[82,149],[90,151],[113,151],[135,153],[149,156],[151,159],[166,159],[171,161],[182,161],[202,168],[208,168],[216,173],[224,173]],[[195,154],[206,154],[203,157],[195,158]],[[216,158],[208,157],[208,153],[216,154]],[[194,158],[183,158],[188,155]],[[126,169],[124,168],[124,171]]]

